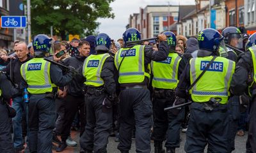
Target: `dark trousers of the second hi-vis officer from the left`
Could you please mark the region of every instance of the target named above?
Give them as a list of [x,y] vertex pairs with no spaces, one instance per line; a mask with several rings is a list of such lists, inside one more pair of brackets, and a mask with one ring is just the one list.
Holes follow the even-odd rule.
[[102,103],[106,93],[98,96],[95,94],[85,95],[86,126],[80,138],[81,148],[95,153],[107,152],[108,137],[112,128],[112,108],[102,112]]

